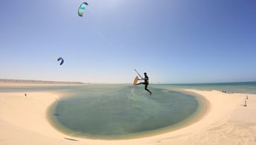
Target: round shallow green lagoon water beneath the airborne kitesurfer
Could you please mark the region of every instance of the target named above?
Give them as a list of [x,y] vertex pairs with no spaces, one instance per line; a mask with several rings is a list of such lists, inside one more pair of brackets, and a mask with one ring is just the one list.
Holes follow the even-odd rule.
[[199,103],[191,94],[143,87],[85,86],[51,106],[48,117],[67,135],[82,138],[138,138],[176,126],[191,117]]

